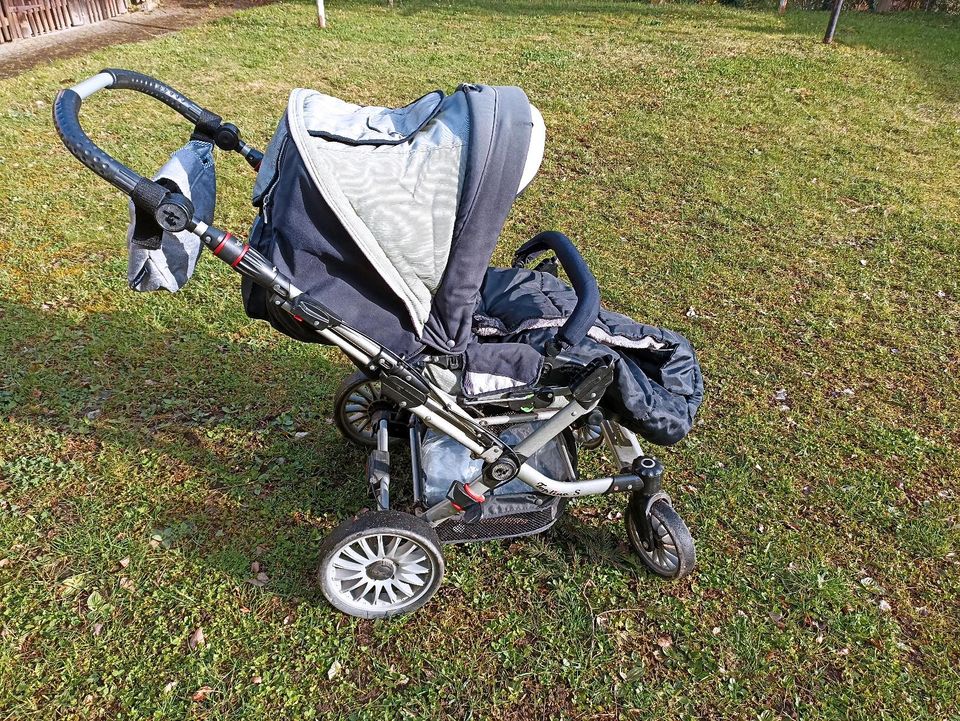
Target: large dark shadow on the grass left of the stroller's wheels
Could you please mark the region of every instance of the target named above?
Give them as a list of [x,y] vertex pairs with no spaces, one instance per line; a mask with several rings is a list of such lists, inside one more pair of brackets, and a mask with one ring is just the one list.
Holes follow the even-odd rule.
[[314,595],[320,538],[367,505],[364,455],[329,423],[350,369],[282,341],[251,348],[129,313],[64,315],[0,304],[0,402],[11,428],[41,437],[25,454],[76,458],[92,477],[53,488],[43,466],[26,466],[8,495],[29,508],[39,489],[95,509],[101,528],[127,527],[142,506],[130,530],[144,542],[156,534],[238,583],[266,562],[268,590]]

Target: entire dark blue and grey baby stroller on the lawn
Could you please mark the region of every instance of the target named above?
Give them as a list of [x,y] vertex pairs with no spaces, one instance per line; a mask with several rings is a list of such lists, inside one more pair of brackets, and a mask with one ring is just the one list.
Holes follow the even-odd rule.
[[[145,93],[193,124],[153,180],[82,130],[81,103],[103,89]],[[692,346],[602,309],[596,280],[558,232],[524,243],[511,268],[488,267],[543,157],[542,117],[519,88],[462,85],[396,109],[295,90],[265,154],[126,70],[60,91],[53,112],[67,148],[131,198],[133,289],[177,290],[206,246],[243,276],[250,317],[335,345],[357,366],[334,419],[369,448],[376,510],[322,544],[333,606],[363,618],[417,609],[441,582],[442,544],[539,533],[568,499],[607,493],[630,494],[627,535],[651,571],[690,573],[690,533],[638,436],[668,445],[690,430],[703,396]],[[211,225],[214,146],[257,171],[247,242]],[[403,511],[391,506],[396,439],[409,444]],[[578,453],[601,445],[615,473],[581,478]]]

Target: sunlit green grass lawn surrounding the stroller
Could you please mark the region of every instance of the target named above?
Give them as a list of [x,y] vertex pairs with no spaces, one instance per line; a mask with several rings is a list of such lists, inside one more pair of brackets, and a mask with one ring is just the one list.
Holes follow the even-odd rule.
[[[827,48],[823,13],[328,5],[0,82],[0,718],[960,717],[960,19],[848,14]],[[699,423],[658,451],[693,576],[643,572],[608,497],[449,549],[413,616],[334,613],[316,549],[367,503],[348,366],[249,321],[210,257],[127,291],[125,203],[50,120],[104,66],[261,147],[295,86],[525,88],[549,143],[494,260],[566,231],[609,307],[699,349]],[[144,171],[189,134],[131,93],[83,118]],[[221,157],[220,224],[251,183]]]

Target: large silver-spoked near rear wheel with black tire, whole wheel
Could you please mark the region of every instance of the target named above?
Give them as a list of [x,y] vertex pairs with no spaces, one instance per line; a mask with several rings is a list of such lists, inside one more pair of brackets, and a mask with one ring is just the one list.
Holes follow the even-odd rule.
[[415,611],[437,592],[443,569],[437,532],[399,511],[372,511],[345,521],[320,547],[323,595],[358,618]]

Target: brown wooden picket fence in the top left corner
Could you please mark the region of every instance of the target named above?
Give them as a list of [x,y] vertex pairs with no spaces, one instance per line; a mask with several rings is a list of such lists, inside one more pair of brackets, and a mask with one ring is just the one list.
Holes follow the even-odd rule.
[[121,15],[126,0],[0,0],[0,43]]

